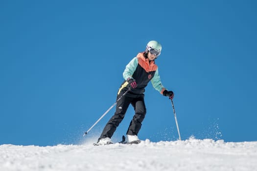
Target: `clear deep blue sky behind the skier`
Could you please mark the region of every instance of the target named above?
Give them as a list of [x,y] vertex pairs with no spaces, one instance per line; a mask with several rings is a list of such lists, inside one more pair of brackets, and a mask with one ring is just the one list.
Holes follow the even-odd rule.
[[[88,138],[151,40],[163,45],[156,64],[183,140],[257,141],[256,9],[254,0],[0,1],[0,144]],[[176,140],[170,101],[149,84],[145,102],[140,139]],[[132,117],[130,107],[114,141]]]

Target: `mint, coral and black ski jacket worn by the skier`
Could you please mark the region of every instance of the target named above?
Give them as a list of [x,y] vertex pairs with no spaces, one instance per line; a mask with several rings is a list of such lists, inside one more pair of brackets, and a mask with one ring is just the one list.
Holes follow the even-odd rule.
[[144,57],[143,52],[139,53],[126,65],[123,78],[125,81],[121,84],[118,95],[120,92],[124,92],[128,89],[128,78],[135,79],[138,85],[137,88],[131,89],[128,94],[143,94],[145,91],[144,88],[150,81],[153,87],[161,94],[163,94],[165,90],[159,76],[158,66],[154,61],[150,61],[149,63],[149,59]]

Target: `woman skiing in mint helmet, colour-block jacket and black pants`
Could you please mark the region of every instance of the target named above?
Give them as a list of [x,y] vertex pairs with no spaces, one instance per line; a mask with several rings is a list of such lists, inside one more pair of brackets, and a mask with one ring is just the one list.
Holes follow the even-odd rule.
[[126,133],[127,142],[140,142],[138,133],[146,114],[144,88],[150,81],[153,87],[161,94],[168,96],[170,99],[173,98],[174,93],[168,91],[162,85],[158,66],[155,64],[155,60],[161,54],[161,50],[162,45],[160,43],[157,41],[150,41],[147,43],[145,51],[139,53],[126,65],[123,72],[124,82],[118,89],[117,99],[120,98],[128,88],[130,88],[130,90],[117,101],[116,111],[104,127],[96,145],[112,144],[111,137],[124,118],[130,104],[134,107],[135,115],[133,116]]

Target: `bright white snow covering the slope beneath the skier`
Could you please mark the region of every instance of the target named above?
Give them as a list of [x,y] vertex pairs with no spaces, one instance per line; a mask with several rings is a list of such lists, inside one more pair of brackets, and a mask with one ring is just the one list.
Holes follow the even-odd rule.
[[0,145],[0,171],[257,171],[257,142],[212,139],[140,144]]

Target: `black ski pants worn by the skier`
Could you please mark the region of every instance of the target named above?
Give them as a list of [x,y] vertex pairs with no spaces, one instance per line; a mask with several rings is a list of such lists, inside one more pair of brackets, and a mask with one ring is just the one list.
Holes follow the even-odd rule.
[[[119,96],[117,96],[117,99],[118,98]],[[106,137],[111,138],[113,136],[116,128],[124,118],[125,113],[130,104],[134,107],[135,115],[133,116],[133,119],[130,122],[130,125],[126,134],[138,135],[142,125],[141,123],[146,114],[144,94],[140,94],[140,95],[126,94],[117,102],[116,111],[114,115],[111,117],[111,119],[108,121],[106,126],[104,127],[103,132],[99,139],[106,138]]]

